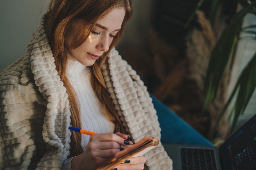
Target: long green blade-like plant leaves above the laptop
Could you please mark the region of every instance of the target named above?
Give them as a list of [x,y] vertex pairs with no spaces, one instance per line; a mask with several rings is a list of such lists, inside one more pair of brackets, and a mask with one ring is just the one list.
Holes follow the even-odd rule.
[[[213,23],[214,11],[216,11],[220,2],[220,0],[212,1],[212,10],[210,11],[211,13],[209,15],[211,23]],[[240,38],[238,38],[240,32],[249,32],[253,33],[254,35],[256,33],[249,30],[250,28],[256,28],[256,25],[249,25],[247,27],[241,28],[241,23],[246,14],[252,13],[256,15],[256,1],[251,1],[249,3],[245,0],[237,0],[237,2],[238,5],[242,6],[242,8],[233,15],[225,30],[222,32],[221,37],[216,42],[215,47],[212,49],[204,84],[206,91],[204,107],[206,107],[211,101],[215,100],[226,67],[230,62],[232,54],[234,53],[236,43],[240,40]],[[255,36],[247,38],[256,40]],[[255,87],[256,53],[240,73],[240,76],[219,116],[218,121],[215,124],[214,129],[219,124],[219,121],[222,119],[230,103],[235,100],[234,105],[232,108],[230,108],[231,111],[229,113],[229,120],[231,120],[231,117],[233,117],[231,126],[231,131],[233,131],[239,116],[244,113],[244,110],[255,90]]]

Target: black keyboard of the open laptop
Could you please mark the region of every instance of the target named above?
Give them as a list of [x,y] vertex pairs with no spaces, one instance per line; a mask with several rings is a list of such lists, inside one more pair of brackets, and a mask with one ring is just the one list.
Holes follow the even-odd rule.
[[214,149],[180,148],[182,170],[217,170]]

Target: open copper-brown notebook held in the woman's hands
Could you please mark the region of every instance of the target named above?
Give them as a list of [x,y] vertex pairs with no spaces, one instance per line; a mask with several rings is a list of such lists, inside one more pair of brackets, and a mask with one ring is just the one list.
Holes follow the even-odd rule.
[[144,137],[131,147],[123,151],[117,152],[112,159],[107,161],[108,163],[99,167],[97,170],[112,170],[113,168],[115,168],[116,165],[123,163],[128,158],[144,155],[146,152],[155,148],[158,144],[158,138]]

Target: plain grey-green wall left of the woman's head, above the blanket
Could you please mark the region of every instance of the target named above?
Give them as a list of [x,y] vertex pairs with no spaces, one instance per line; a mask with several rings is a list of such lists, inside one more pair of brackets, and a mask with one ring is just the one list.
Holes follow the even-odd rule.
[[1,0],[0,71],[27,51],[49,0]]

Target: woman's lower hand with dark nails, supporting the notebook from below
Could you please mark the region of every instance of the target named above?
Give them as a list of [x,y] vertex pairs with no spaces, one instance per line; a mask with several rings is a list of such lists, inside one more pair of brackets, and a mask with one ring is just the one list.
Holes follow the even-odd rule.
[[144,169],[146,160],[144,156],[129,158],[125,163],[119,164],[115,168],[117,168],[117,170],[142,170]]

